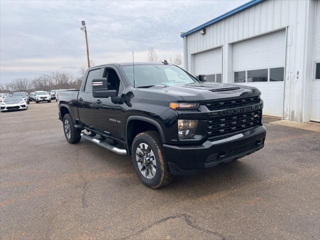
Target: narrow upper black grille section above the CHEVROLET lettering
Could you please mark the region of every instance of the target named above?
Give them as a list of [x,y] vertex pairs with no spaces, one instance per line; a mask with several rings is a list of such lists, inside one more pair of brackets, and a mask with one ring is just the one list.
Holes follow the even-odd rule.
[[235,100],[208,102],[208,103],[205,103],[205,105],[210,111],[213,111],[213,110],[226,109],[226,108],[232,108],[237,106],[246,106],[246,105],[251,105],[259,102],[260,102],[260,97],[253,96],[253,97],[247,97],[247,98],[235,99]]

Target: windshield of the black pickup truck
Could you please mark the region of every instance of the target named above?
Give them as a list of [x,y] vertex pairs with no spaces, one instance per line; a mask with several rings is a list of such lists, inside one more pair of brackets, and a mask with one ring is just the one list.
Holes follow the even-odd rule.
[[[133,86],[133,66],[122,66],[124,74]],[[197,79],[174,65],[134,65],[135,86],[182,85]]]

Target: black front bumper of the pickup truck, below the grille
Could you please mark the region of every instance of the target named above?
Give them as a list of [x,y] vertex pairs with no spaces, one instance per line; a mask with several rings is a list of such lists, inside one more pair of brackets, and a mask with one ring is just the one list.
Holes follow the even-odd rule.
[[202,168],[216,166],[251,154],[264,146],[265,128],[253,129],[201,145],[167,145],[163,151],[173,175],[195,174]]

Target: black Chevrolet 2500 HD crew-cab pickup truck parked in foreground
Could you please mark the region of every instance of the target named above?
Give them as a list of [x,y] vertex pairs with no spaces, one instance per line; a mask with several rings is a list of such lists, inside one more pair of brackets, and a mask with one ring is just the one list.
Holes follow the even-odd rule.
[[91,67],[79,90],[59,92],[65,138],[131,155],[151,188],[261,149],[260,91],[199,78],[167,62]]

